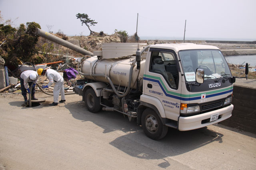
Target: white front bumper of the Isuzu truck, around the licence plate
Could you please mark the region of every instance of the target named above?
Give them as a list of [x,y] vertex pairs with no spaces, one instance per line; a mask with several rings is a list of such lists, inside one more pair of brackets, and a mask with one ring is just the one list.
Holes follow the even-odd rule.
[[[188,116],[188,117],[179,117],[178,130],[189,131],[189,130],[198,129],[201,127],[206,127],[208,125],[218,123],[220,121],[223,121],[231,117],[233,108],[234,106],[231,104],[230,106],[227,106],[218,110],[210,111],[207,113],[202,113],[199,115]],[[203,120],[210,119],[211,115],[214,115],[216,113],[219,113],[219,116],[221,115],[221,118],[208,123],[202,123]]]

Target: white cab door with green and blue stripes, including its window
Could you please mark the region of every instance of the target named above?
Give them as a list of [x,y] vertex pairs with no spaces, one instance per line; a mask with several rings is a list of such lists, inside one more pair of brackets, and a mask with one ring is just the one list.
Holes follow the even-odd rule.
[[181,74],[176,53],[172,50],[151,48],[144,74],[143,92],[158,98],[166,118],[178,121],[180,114]]

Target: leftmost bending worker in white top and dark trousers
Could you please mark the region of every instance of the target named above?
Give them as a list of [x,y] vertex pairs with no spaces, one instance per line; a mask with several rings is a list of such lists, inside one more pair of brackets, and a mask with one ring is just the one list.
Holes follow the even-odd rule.
[[38,100],[37,98],[35,98],[35,92],[36,92],[35,86],[36,86],[37,80],[38,80],[38,74],[36,71],[25,70],[20,74],[20,87],[21,87],[21,92],[22,92],[22,96],[24,97],[25,103],[28,102],[27,91],[28,91],[28,94],[30,94],[30,89],[29,89],[30,86],[33,86],[31,90],[31,99]]

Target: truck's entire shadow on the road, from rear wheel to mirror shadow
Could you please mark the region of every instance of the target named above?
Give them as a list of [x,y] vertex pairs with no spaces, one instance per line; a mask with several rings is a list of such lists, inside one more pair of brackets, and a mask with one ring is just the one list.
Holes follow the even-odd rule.
[[[136,121],[129,122],[121,113],[100,111],[90,113],[83,102],[66,104],[65,107],[75,119],[91,121],[104,129],[103,133],[123,131],[126,135],[116,138],[110,145],[122,150],[126,154],[143,159],[163,159],[168,156],[180,155],[200,148],[208,143],[217,141],[222,143],[222,134],[207,129],[207,127],[192,131],[177,131],[169,128],[166,137],[159,141],[149,139],[142,127]],[[168,167],[169,162],[164,160],[160,167]]]

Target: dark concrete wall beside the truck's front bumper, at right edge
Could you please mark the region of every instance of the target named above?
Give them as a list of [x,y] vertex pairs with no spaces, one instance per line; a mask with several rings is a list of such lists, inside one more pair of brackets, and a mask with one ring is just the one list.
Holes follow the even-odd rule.
[[256,133],[256,80],[236,80],[232,104],[232,117],[220,124]]

